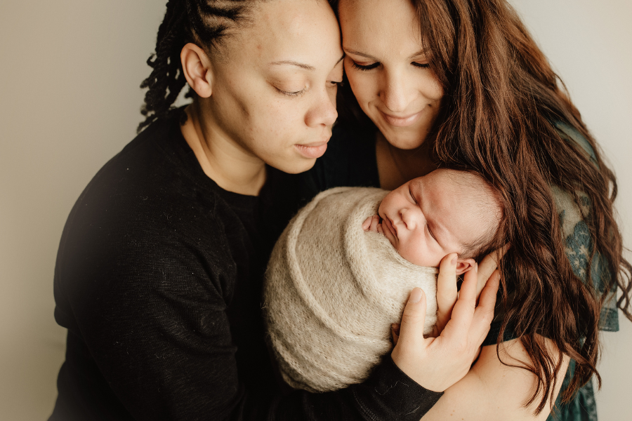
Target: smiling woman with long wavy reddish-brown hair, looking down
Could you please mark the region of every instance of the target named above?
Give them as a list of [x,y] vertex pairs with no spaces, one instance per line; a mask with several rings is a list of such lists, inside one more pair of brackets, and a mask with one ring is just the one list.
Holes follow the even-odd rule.
[[347,115],[305,196],[467,168],[506,209],[496,247],[511,248],[486,346],[423,419],[544,419],[553,408],[562,420],[596,419],[598,331],[618,329],[617,307],[632,319],[631,265],[614,174],[546,57],[505,0],[333,6]]

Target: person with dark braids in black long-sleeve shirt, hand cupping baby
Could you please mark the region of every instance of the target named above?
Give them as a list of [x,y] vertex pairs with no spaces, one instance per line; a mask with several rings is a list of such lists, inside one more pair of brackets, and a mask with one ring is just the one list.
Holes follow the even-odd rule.
[[[336,17],[324,0],[166,7],[142,131],[88,184],[60,241],[55,320],[68,333],[51,420],[419,420],[489,330],[494,261],[468,272],[436,339],[412,291],[399,364],[387,356],[336,392],[283,393],[261,284],[296,210],[291,174],[322,156],[337,117]],[[173,109],[186,84],[192,104]],[[451,262],[440,290],[456,284]]]

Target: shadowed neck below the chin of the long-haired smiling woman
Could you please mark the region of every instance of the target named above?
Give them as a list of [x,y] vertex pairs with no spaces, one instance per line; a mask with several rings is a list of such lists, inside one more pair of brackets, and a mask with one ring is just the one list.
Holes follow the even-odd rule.
[[426,142],[416,149],[398,149],[390,145],[380,131],[376,133],[376,159],[380,187],[387,190],[437,169]]

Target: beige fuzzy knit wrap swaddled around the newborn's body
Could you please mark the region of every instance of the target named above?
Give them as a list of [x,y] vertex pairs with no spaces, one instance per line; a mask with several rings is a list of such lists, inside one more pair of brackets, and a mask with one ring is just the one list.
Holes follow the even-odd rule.
[[338,187],[298,212],[272,251],[264,311],[284,380],[327,392],[360,383],[390,352],[412,288],[426,293],[424,333],[436,323],[436,274],[404,260],[386,237],[364,232],[388,192]]

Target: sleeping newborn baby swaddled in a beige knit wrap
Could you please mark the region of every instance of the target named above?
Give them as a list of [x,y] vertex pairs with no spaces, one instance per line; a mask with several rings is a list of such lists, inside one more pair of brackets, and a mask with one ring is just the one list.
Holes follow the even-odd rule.
[[365,380],[392,348],[410,290],[436,323],[437,266],[475,264],[499,227],[495,190],[478,175],[440,169],[386,192],[338,187],[301,209],[272,251],[264,286],[270,345],[284,380],[327,392]]

